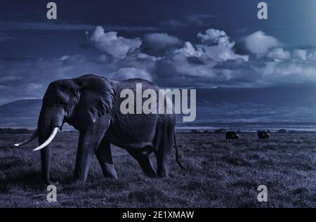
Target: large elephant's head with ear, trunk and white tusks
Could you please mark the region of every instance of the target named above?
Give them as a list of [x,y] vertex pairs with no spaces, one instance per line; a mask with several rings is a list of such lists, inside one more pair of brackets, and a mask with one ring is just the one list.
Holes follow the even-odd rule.
[[98,117],[106,115],[114,103],[114,90],[109,80],[93,74],[76,79],[62,79],[49,84],[44,95],[37,132],[20,146],[38,136],[41,150],[42,176],[50,184],[51,148],[58,129],[67,122],[79,131],[84,131]]

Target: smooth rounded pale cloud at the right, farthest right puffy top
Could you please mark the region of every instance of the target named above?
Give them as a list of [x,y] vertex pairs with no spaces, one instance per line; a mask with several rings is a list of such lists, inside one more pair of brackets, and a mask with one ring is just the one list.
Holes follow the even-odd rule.
[[254,32],[246,37],[242,37],[237,42],[237,48],[243,53],[250,53],[263,56],[270,48],[279,46],[280,43],[275,37],[271,37],[262,31]]

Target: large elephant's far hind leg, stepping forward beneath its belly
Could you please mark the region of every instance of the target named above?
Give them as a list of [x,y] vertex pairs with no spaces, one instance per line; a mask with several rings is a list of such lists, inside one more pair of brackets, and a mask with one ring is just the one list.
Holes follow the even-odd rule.
[[[145,150],[144,150],[145,149]],[[133,149],[126,149],[129,154],[134,157],[137,162],[140,164],[140,167],[143,169],[143,172],[146,176],[154,177],[156,176],[156,170],[154,169],[154,166],[152,165],[152,162],[150,162],[150,159],[148,155],[150,154],[152,150],[151,148],[140,148],[139,150],[133,150]]]

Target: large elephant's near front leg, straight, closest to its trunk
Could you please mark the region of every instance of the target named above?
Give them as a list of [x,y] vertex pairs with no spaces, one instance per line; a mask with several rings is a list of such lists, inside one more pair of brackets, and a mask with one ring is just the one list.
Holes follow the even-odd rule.
[[74,167],[74,178],[77,181],[86,181],[91,159],[100,145],[107,126],[95,123],[85,131],[80,131],[79,144]]

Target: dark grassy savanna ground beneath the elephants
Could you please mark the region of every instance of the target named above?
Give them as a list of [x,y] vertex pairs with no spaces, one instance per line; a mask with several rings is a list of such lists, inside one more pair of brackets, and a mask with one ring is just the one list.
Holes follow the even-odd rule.
[[[72,182],[77,133],[53,141],[51,177],[59,181],[57,202],[46,201],[40,154],[11,145],[29,135],[0,135],[0,207],[316,207],[316,133],[178,133],[180,169],[169,155],[170,178],[146,178],[125,150],[112,147],[119,180],[103,178],[96,158],[86,183]],[[154,157],[152,156],[152,160]],[[268,202],[258,202],[258,185]]]

